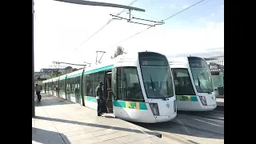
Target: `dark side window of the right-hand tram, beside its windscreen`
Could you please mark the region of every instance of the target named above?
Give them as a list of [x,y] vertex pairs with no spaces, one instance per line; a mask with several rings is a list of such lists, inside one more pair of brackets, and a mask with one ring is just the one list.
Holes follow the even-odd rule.
[[172,69],[175,93],[177,95],[194,95],[194,88],[187,69]]

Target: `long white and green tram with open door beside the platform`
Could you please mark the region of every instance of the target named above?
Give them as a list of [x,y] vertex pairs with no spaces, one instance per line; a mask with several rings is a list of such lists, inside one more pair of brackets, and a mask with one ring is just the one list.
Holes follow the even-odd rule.
[[95,89],[98,82],[104,83],[108,110],[116,118],[155,123],[170,121],[177,115],[169,62],[165,55],[154,52],[122,54],[112,62],[43,83],[46,93],[97,110]]

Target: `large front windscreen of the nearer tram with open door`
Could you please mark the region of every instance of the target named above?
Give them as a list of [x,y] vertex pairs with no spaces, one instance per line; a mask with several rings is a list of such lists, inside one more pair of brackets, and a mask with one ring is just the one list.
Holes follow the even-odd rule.
[[174,96],[169,62],[162,54],[139,53],[142,79],[147,98],[170,98]]

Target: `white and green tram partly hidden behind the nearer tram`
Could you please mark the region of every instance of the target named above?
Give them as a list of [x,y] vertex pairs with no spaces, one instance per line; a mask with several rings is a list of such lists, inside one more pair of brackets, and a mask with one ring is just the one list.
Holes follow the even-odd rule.
[[177,109],[214,110],[217,106],[210,68],[198,57],[169,58],[173,73]]

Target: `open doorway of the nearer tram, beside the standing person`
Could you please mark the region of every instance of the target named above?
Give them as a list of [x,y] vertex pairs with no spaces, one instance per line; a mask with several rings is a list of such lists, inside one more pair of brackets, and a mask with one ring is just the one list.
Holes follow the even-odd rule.
[[112,104],[112,92],[111,92],[111,70],[105,71],[104,79],[104,94],[106,96],[106,106],[109,113],[113,113],[113,104]]

